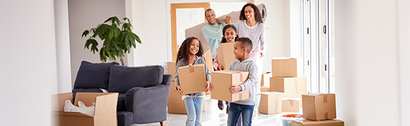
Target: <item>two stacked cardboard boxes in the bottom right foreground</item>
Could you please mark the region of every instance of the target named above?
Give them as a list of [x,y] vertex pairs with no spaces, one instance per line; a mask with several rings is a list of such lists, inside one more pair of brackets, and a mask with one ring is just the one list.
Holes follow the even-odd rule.
[[303,118],[292,120],[292,126],[343,126],[344,121],[336,119],[335,94],[303,94]]

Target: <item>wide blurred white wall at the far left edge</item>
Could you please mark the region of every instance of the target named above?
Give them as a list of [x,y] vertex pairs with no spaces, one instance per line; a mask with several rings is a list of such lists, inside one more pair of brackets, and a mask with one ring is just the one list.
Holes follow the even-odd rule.
[[0,4],[0,125],[50,125],[57,92],[52,0]]

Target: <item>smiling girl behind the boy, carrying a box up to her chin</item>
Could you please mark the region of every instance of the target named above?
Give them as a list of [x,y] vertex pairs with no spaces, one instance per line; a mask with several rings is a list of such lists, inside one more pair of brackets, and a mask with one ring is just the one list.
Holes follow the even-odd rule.
[[[236,29],[234,25],[225,25],[225,27],[223,27],[222,29],[222,34],[223,34],[223,37],[220,43],[233,43],[236,41],[237,38],[239,38],[238,30]],[[213,60],[213,68],[216,69],[217,71],[224,69],[224,66],[218,63],[218,55],[216,54],[215,54],[215,59]],[[229,102],[226,102],[226,104],[227,104],[226,113],[228,113],[229,112]],[[223,102],[221,100],[218,100],[218,107],[219,106],[223,106]],[[223,109],[223,107],[219,107],[219,108],[220,110]]]

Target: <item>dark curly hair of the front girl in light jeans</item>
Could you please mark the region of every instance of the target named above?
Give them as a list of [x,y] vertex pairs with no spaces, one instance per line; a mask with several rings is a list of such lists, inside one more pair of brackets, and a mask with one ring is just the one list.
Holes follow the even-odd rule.
[[[189,38],[186,38],[185,41],[183,41],[183,43],[181,44],[181,47],[178,50],[178,53],[176,55],[176,63],[178,64],[178,61],[181,59],[185,59],[188,61],[188,52],[190,51],[190,45],[192,43],[192,41],[194,39],[197,39],[197,41],[199,41],[198,38],[192,36]],[[202,48],[202,43],[201,41],[199,41],[199,50],[197,52],[198,57],[202,57],[204,55],[204,49]]]

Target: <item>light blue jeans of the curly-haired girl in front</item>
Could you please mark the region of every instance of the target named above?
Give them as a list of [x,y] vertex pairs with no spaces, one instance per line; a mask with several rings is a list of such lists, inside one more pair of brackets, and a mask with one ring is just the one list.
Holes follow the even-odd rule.
[[201,126],[202,106],[204,105],[204,97],[186,97],[183,99],[185,108],[187,109],[188,119],[185,122],[186,126]]

